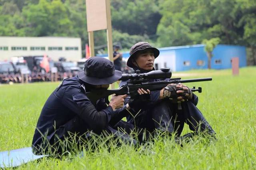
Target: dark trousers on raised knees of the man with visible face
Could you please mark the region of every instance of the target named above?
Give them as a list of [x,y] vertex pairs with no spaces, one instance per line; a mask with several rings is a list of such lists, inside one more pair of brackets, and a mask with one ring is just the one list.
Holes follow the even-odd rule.
[[150,132],[154,129],[176,132],[177,136],[180,136],[184,123],[186,123],[193,132],[206,131],[209,134],[215,134],[202,113],[191,101],[182,102],[180,105],[181,109],[178,109],[178,104],[170,103],[168,100],[161,101],[153,109],[141,111],[129,123],[147,128]]

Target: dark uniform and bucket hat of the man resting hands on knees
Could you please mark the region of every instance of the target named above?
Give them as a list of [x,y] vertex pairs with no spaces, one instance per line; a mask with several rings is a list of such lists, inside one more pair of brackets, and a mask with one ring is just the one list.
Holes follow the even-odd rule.
[[[158,49],[152,47],[147,42],[139,42],[133,45],[130,49],[130,57],[128,58],[127,65],[132,67],[134,71],[139,69],[140,73],[148,72],[134,65],[134,63],[136,63],[135,57],[137,54],[146,49],[150,49],[154,53],[155,58],[158,57],[160,53]],[[160,80],[154,79],[152,81]],[[120,85],[124,83],[126,82],[122,81]],[[171,134],[177,132],[178,136],[180,136],[182,132],[184,123],[187,123],[190,130],[195,133],[206,131],[211,135],[215,134],[212,127],[210,127],[209,123],[196,107],[198,103],[198,97],[196,95],[193,94],[192,99],[184,101],[181,104],[172,103],[169,99],[159,100],[159,96],[160,91],[152,91],[150,94],[151,100],[148,104],[142,103],[132,108],[130,111],[134,112],[133,114],[138,113],[140,109],[141,111],[135,119],[128,115],[128,123],[132,123],[141,128],[147,128],[149,131],[153,131],[157,128],[161,131],[170,132]],[[126,102],[128,103],[128,101]]]

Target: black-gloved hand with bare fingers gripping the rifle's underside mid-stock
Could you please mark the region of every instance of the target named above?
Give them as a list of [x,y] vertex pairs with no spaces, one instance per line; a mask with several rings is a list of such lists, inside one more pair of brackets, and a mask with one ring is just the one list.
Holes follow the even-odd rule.
[[146,103],[150,102],[150,91],[147,89],[145,91],[144,89],[138,89],[138,97],[135,99],[130,99],[128,101],[128,105],[131,108],[140,108],[143,109],[144,106],[146,106]]

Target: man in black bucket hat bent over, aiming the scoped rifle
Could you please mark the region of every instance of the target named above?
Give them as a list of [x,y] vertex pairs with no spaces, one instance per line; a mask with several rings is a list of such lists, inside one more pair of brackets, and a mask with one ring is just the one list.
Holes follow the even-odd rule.
[[91,132],[114,134],[114,138],[136,144],[136,140],[116,130],[120,127],[129,133],[134,128],[120,121],[128,115],[128,105],[123,106],[126,95],[113,96],[107,106],[104,99],[92,103],[84,93],[107,89],[121,77],[121,71],[115,70],[111,61],[92,57],[85,62],[84,71],[62,81],[44,104],[32,141],[33,152],[60,154],[70,151],[70,140],[79,145],[78,141],[90,138]]

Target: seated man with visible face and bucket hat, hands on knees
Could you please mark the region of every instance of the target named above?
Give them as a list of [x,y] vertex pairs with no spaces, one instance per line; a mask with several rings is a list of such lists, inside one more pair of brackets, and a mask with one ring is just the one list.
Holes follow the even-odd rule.
[[[130,49],[130,57],[127,65],[132,67],[134,71],[140,70],[140,73],[146,73],[154,70],[154,60],[158,57],[160,51],[152,47],[147,42],[138,42]],[[154,79],[152,81],[160,81]],[[126,83],[122,81],[120,86]],[[170,100],[172,99],[172,100]],[[133,99],[126,100],[126,103],[132,102]],[[140,113],[137,117],[127,116],[127,121],[141,128],[147,128],[149,131],[158,129],[168,132],[168,134],[176,134],[178,138],[184,123],[189,125],[192,133],[186,134],[191,137],[198,132],[206,132],[214,136],[215,132],[206,121],[202,113],[196,107],[198,97],[184,84],[170,84],[160,91],[151,91],[150,101],[138,103],[138,105],[130,105],[130,112]]]

